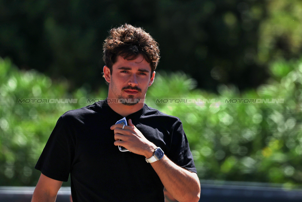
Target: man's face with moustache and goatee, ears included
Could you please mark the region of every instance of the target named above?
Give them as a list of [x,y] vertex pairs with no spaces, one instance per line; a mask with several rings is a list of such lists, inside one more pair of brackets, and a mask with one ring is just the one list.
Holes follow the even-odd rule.
[[109,68],[104,67],[104,76],[109,82],[108,98],[131,99],[133,103],[123,102],[123,104],[137,104],[140,99],[145,98],[148,87],[153,83],[154,75],[155,72],[151,77],[150,63],[142,55],[135,60],[126,60],[117,56],[111,75]]

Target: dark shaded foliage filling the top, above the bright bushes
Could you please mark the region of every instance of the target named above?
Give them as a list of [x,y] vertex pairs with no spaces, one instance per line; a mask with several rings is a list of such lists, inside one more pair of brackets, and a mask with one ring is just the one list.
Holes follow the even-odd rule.
[[34,68],[69,91],[98,90],[102,45],[125,22],[143,27],[159,43],[160,70],[179,71],[216,92],[240,91],[269,77],[268,62],[299,58],[301,0],[0,0],[0,57]]

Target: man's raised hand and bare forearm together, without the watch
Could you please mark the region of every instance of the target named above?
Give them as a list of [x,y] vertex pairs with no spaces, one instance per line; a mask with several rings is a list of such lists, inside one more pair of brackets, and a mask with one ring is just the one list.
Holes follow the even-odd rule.
[[[128,120],[128,126],[114,124],[110,127],[114,130],[114,145],[120,145],[129,151],[150,158],[156,145],[148,141],[146,137]],[[121,140],[121,141],[119,141]],[[191,173],[175,163],[166,155],[160,161],[150,163],[154,171],[167,191],[180,202],[197,202],[200,198],[200,183],[196,173]]]

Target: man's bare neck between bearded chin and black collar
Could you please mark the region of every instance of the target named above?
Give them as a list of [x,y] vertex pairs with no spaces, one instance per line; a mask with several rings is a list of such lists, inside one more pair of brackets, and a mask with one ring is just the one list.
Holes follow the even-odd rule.
[[[111,98],[108,95],[108,100],[110,100]],[[112,98],[112,99],[116,99],[116,98]],[[145,98],[143,99],[143,101],[145,100]],[[117,114],[120,114],[123,117],[127,117],[130,114],[133,114],[134,112],[139,111],[141,108],[143,108],[144,106],[144,102],[140,102],[134,105],[125,105],[122,103],[115,103],[115,102],[108,102],[109,107],[115,111]]]

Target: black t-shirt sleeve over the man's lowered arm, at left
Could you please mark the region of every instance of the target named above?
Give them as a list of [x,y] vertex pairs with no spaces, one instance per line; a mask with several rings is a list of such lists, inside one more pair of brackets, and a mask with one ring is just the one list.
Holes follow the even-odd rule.
[[35,166],[43,175],[64,182],[68,180],[74,157],[74,141],[67,128],[61,116]]

